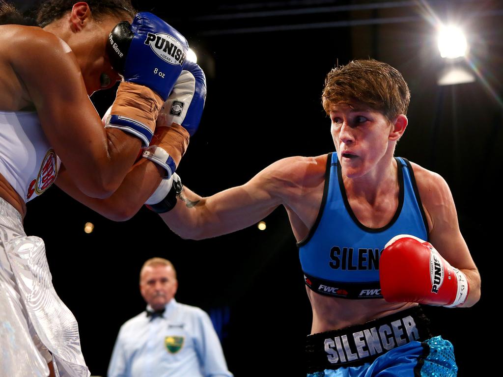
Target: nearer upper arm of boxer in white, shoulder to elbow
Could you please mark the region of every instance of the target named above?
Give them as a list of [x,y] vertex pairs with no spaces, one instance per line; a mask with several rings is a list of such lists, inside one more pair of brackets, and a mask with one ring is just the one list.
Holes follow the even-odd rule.
[[[80,68],[69,47],[40,31],[31,53],[14,56],[13,65],[33,102],[49,144],[64,162],[79,189],[103,195],[109,145],[101,119],[91,103]],[[106,182],[107,183],[107,182]]]

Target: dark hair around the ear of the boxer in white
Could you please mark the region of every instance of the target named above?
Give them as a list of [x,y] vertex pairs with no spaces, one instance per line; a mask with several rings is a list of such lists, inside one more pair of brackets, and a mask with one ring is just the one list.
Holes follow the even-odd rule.
[[[136,10],[129,0],[89,0],[86,1],[91,9],[91,14],[96,20],[103,16],[125,16],[134,18]],[[37,11],[37,21],[40,27],[49,25],[51,22],[60,19],[73,8],[74,0],[48,0],[41,3]]]

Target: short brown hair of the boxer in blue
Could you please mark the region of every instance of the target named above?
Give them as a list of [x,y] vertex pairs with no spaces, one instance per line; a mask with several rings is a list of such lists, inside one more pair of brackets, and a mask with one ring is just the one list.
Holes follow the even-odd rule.
[[363,105],[381,112],[389,121],[407,114],[410,91],[398,70],[381,61],[354,60],[333,68],[325,78],[323,109],[331,105]]

